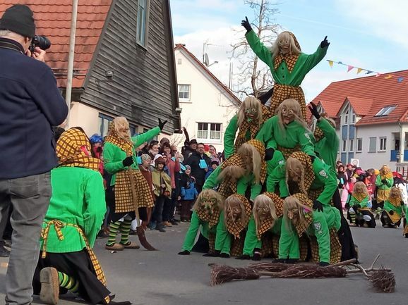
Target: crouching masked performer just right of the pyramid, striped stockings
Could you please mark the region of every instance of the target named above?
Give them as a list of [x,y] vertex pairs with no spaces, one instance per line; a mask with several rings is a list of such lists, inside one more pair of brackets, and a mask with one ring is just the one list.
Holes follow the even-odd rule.
[[370,195],[364,182],[356,182],[350,199],[349,220],[361,227],[376,228],[376,220],[369,206]]

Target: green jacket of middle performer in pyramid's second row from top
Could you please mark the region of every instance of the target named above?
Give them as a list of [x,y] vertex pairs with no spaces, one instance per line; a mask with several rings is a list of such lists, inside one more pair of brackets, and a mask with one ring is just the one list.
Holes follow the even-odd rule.
[[284,130],[281,130],[278,116],[272,116],[267,120],[256,139],[265,144],[265,148],[279,149],[295,149],[300,146],[300,150],[304,151],[309,156],[315,156],[315,149],[311,142],[313,136],[301,124],[295,120],[284,125]]

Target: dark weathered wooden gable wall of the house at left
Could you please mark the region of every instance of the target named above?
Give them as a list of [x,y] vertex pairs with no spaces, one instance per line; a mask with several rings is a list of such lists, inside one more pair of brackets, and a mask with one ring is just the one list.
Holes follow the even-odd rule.
[[[147,47],[136,44],[138,1],[114,0],[85,80],[81,101],[129,122],[180,128],[173,39],[168,0],[150,0]],[[106,70],[113,70],[109,80]]]

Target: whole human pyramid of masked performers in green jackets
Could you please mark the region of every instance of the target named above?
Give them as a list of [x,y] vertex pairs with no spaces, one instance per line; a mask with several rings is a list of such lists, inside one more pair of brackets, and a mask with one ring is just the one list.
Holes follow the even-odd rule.
[[247,97],[230,121],[224,136],[227,159],[205,181],[179,254],[205,251],[204,256],[254,261],[272,257],[320,266],[354,259],[337,189],[334,122],[311,104],[317,120],[311,132],[299,87],[330,43],[325,37],[308,55],[291,32],[282,32],[269,49],[248,18],[241,25],[249,46],[275,80],[273,92],[268,92],[270,107],[260,101],[265,96]]

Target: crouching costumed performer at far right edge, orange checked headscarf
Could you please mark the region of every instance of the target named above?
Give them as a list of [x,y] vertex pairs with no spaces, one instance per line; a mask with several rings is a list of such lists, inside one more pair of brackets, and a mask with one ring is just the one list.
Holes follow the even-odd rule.
[[384,209],[381,213],[381,223],[383,227],[397,228],[401,224],[402,213],[404,212],[404,201],[398,187],[392,187],[390,196],[384,202]]

